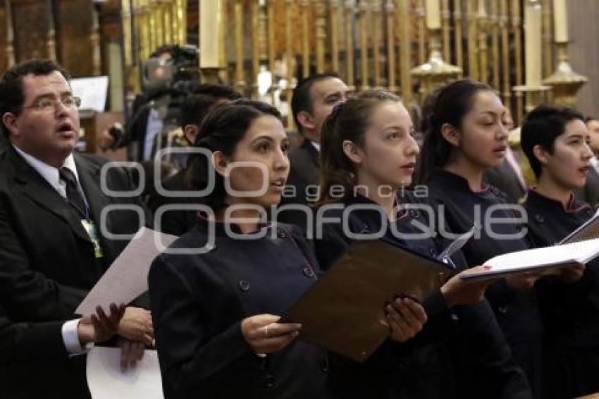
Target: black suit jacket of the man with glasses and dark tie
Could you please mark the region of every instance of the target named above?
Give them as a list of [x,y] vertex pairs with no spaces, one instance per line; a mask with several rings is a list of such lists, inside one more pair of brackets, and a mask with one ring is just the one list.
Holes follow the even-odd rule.
[[[101,192],[100,170],[105,163],[95,156],[75,154],[80,183],[98,231],[101,231],[101,211],[106,206],[142,207],[137,198],[113,198]],[[71,319],[87,290],[127,242],[109,240],[100,233],[104,257],[96,259],[79,214],[12,147],[0,155],[0,171],[0,303],[6,316],[14,322]],[[128,173],[120,168],[111,168],[106,173],[106,185],[111,190],[132,189]],[[113,234],[128,234],[135,233],[140,223],[135,211],[111,211],[106,214],[106,227]],[[56,345],[60,346],[61,340]],[[28,362],[27,367],[0,370],[0,380],[18,381],[27,376],[27,388],[39,391],[26,397],[51,398],[51,387],[63,387],[68,379],[70,386],[79,388],[73,397],[88,395],[85,356],[66,361],[68,367],[52,362],[39,370],[32,367],[33,364],[41,367],[39,358],[44,353],[35,362]],[[56,373],[68,376],[61,374],[61,378]]]

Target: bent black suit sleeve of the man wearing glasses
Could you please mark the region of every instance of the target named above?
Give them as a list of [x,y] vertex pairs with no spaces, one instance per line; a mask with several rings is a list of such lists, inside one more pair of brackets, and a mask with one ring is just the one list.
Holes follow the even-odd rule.
[[13,231],[6,207],[0,206],[0,292],[6,293],[9,317],[18,320],[57,320],[71,317],[87,295],[86,290],[65,286],[30,267],[27,250]]

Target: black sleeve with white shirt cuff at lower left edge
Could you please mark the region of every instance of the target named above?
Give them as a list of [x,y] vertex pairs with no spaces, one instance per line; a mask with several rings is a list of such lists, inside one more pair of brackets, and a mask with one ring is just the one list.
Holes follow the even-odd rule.
[[43,361],[66,359],[62,325],[63,321],[13,323],[0,307],[0,366],[31,362],[40,355]]

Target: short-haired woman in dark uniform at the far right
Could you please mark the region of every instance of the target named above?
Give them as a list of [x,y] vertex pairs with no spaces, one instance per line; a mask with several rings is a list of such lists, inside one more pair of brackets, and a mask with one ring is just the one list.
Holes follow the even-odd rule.
[[[593,208],[574,198],[593,156],[588,129],[574,109],[538,106],[521,129],[522,151],[537,185],[524,203],[534,247],[559,243],[591,219]],[[564,269],[536,283],[543,317],[544,398],[574,398],[599,391],[599,262]]]

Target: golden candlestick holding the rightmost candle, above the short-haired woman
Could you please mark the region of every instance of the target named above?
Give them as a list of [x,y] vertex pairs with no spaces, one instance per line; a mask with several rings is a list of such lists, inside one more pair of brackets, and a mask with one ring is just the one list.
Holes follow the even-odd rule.
[[543,85],[552,87],[553,102],[559,106],[576,107],[576,95],[588,78],[572,70],[568,56],[568,42],[555,43],[557,46],[557,70]]

